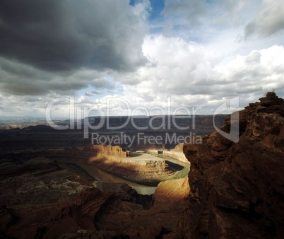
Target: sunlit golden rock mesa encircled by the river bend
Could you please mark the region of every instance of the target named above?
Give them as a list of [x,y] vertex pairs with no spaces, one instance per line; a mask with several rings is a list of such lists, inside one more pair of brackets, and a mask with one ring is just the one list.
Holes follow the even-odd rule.
[[142,151],[131,152],[126,157],[120,146],[95,145],[88,150],[90,163],[131,182],[157,186],[161,181],[184,177],[182,170],[172,169],[165,160]]

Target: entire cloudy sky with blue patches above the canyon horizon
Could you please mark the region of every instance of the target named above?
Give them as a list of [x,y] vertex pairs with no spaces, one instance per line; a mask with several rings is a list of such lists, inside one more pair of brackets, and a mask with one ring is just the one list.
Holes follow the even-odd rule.
[[213,114],[236,96],[284,97],[283,12],[283,0],[1,0],[0,115],[49,105],[67,118],[69,101]]

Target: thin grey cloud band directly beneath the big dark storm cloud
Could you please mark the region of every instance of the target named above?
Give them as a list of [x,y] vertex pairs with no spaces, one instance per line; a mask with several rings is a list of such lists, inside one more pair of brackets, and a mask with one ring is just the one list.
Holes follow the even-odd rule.
[[103,78],[104,74],[94,70],[81,70],[59,75],[0,57],[0,93],[46,95],[52,91],[69,95],[88,86],[98,89],[114,88],[112,82]]

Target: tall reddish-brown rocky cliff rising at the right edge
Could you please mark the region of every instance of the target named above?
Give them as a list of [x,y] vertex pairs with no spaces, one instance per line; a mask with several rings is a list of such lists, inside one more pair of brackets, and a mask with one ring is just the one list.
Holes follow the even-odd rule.
[[191,163],[189,207],[166,238],[284,238],[284,101],[268,93],[230,116],[239,141],[213,132],[184,144]]

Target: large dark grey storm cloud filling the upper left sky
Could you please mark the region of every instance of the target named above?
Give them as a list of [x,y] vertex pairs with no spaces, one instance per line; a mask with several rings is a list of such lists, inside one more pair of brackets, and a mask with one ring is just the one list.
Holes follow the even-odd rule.
[[0,56],[45,71],[134,69],[145,33],[128,1],[0,1]]

